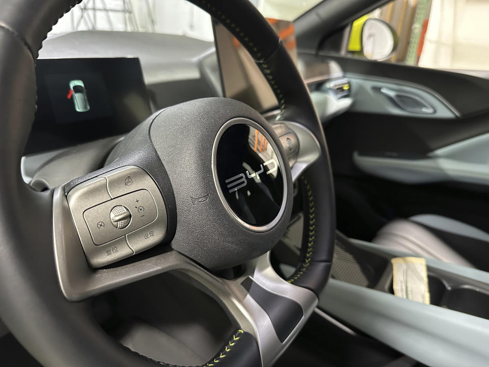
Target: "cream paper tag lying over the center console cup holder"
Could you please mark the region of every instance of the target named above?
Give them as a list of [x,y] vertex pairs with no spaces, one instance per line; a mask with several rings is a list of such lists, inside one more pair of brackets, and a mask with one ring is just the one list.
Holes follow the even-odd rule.
[[397,297],[429,304],[428,273],[423,257],[395,257],[392,287]]

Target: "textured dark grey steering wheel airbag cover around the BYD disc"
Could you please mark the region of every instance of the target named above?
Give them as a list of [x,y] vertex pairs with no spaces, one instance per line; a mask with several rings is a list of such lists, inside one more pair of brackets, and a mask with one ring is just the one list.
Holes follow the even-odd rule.
[[[230,120],[239,117],[243,121],[248,119],[250,123],[257,123],[272,139],[278,150],[276,159],[281,172],[285,176],[284,213],[278,217],[278,222],[266,231],[255,231],[241,225],[236,218],[226,209],[224,200],[220,199],[218,183],[213,177],[213,146],[216,136],[222,126]],[[254,128],[253,137],[255,136]],[[258,131],[258,130],[256,130]],[[137,135],[149,135],[150,141],[134,139]],[[223,138],[225,139],[225,138]],[[248,135],[241,140],[247,141]],[[193,258],[208,269],[219,270],[235,265],[243,264],[269,251],[282,237],[290,221],[292,210],[292,179],[290,168],[284,164],[285,153],[278,141],[275,130],[255,110],[246,104],[233,99],[205,98],[198,99],[161,111],[151,120],[151,123],[143,123],[127,136],[112,152],[108,161],[115,161],[118,154],[126,154],[143,150],[155,149],[159,160],[168,174],[173,188],[176,202],[176,216],[169,215],[169,221],[173,220],[169,227],[175,227],[175,235],[172,240],[172,248]],[[141,144],[152,144],[152,147],[142,147]],[[251,153],[253,146],[250,146]],[[237,147],[236,147],[237,149]],[[239,170],[240,155],[236,159]],[[143,167],[147,167],[144,165]],[[270,167],[271,164],[269,164]],[[239,172],[229,173],[232,178],[240,173],[244,179],[259,181],[263,185],[266,175],[261,165],[262,178],[253,176],[253,170],[240,167]],[[215,167],[219,170],[219,166]],[[279,170],[279,167],[273,167]],[[147,168],[148,169],[148,168]],[[253,167],[259,171],[260,167]],[[271,170],[267,169],[266,171]],[[242,171],[242,173],[241,173]],[[232,185],[232,183],[231,183]],[[280,185],[283,185],[280,182]],[[233,188],[231,187],[230,191]],[[233,195],[243,192],[250,196],[252,185],[244,186],[239,191],[233,191]],[[248,188],[250,188],[248,190]],[[227,188],[225,188],[227,189]],[[223,190],[221,190],[223,191]],[[268,190],[266,190],[268,192]],[[265,210],[265,208],[263,208]]]

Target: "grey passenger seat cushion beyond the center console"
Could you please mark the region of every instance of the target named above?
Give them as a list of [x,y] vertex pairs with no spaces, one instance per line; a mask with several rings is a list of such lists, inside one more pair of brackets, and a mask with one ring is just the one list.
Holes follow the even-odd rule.
[[382,227],[372,242],[447,263],[489,270],[489,234],[439,215],[396,219]]

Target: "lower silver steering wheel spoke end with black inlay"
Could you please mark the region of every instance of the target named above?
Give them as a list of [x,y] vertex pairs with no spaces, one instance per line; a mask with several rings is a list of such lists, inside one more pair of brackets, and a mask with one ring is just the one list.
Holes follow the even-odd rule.
[[[235,280],[225,280],[225,299],[237,302],[232,316],[258,343],[263,365],[271,365],[302,328],[317,304],[316,295],[282,279],[271,267],[270,253],[246,266]],[[222,296],[221,296],[222,297]]]

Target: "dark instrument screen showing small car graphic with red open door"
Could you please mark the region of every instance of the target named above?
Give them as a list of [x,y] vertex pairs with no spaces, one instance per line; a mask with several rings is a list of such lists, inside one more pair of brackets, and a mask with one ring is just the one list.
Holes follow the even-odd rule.
[[130,132],[151,115],[138,58],[39,59],[24,154]]

